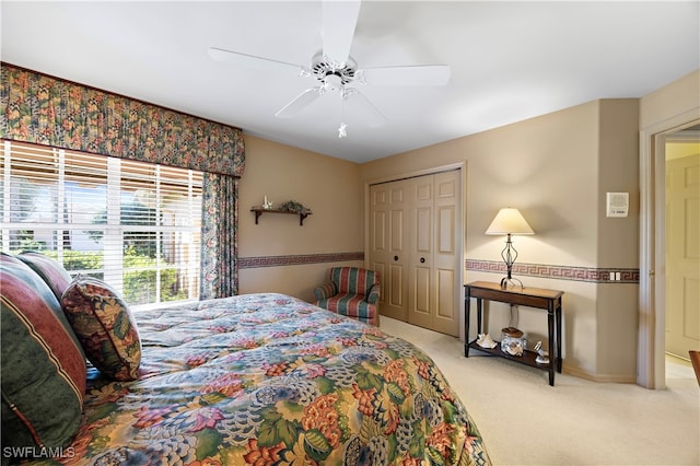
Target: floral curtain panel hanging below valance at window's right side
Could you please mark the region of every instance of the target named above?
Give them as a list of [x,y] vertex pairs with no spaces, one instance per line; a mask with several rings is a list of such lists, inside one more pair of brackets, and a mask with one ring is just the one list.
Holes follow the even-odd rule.
[[238,293],[238,178],[205,174],[199,299]]

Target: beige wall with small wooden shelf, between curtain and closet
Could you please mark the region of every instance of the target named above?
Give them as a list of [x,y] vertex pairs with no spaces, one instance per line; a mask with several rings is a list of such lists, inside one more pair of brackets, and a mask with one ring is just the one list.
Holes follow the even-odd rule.
[[[238,256],[310,256],[363,251],[360,166],[253,136],[245,136],[246,165],[241,178]],[[296,200],[313,214],[264,213],[258,224],[250,207],[264,197],[281,203]],[[240,270],[240,292],[273,291],[313,300],[313,289],[329,267],[350,263],[312,263]]]

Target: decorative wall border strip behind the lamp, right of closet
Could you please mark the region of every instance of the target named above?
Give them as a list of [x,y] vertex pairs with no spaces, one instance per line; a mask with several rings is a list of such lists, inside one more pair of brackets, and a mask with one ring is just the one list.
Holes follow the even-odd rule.
[[[505,273],[505,264],[498,260],[467,259],[467,270]],[[612,273],[619,272],[619,280],[611,280]],[[546,264],[514,264],[513,273],[527,277],[551,278],[557,280],[588,281],[594,283],[639,283],[639,269],[630,268],[592,268],[552,266]]]

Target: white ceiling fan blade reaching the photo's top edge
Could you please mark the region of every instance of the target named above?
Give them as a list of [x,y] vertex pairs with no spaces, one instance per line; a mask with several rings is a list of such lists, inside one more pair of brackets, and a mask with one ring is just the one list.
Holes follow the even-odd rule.
[[326,0],[323,3],[322,38],[324,55],[342,68],[350,56],[360,0]]

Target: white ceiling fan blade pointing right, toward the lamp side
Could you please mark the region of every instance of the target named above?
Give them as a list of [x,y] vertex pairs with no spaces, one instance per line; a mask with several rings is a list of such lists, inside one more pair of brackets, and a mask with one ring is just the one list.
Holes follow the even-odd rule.
[[445,85],[452,71],[448,65],[365,68],[355,79],[372,85]]

